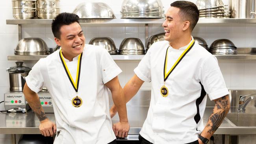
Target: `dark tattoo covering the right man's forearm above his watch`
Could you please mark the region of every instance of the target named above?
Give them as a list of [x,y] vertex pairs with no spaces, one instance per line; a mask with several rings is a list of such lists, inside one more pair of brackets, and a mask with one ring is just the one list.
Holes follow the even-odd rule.
[[221,125],[223,119],[225,118],[226,114],[228,113],[229,103],[226,96],[223,96],[216,100],[215,107],[213,109],[213,113],[211,114],[208,124],[206,127],[210,127],[208,133],[213,134],[218,127]]

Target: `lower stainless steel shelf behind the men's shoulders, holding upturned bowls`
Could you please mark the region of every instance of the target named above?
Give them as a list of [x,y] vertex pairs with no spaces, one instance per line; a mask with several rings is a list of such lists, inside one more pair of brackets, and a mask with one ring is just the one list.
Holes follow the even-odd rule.
[[[47,55],[9,55],[8,60],[13,61],[38,61]],[[218,60],[256,60],[256,55],[237,54],[237,55],[214,55]],[[111,55],[113,60],[141,60],[144,55]]]

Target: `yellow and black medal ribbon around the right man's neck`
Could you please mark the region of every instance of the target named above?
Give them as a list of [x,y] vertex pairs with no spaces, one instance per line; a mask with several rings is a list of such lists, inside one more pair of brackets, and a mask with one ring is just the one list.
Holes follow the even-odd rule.
[[169,77],[169,75],[173,72],[173,70],[176,68],[176,66],[180,63],[180,61],[183,59],[183,57],[185,57],[185,55],[189,52],[189,50],[191,50],[191,48],[194,46],[195,41],[193,40],[189,46],[186,48],[186,50],[184,50],[184,52],[180,55],[180,57],[177,59],[177,61],[174,63],[174,65],[172,66],[172,68],[169,70],[169,72],[166,73],[167,70],[167,58],[168,58],[168,49],[166,50],[166,54],[165,54],[165,63],[164,63],[164,70],[163,70],[163,81],[165,82],[166,79]]

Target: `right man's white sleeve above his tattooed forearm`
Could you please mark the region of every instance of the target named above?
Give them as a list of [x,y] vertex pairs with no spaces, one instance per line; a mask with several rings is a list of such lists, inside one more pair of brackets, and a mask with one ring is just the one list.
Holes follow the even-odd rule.
[[215,56],[210,55],[202,62],[199,76],[210,100],[215,100],[229,94]]

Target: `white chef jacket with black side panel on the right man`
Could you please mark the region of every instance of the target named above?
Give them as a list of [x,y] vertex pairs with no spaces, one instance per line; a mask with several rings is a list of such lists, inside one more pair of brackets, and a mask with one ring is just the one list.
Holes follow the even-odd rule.
[[[179,50],[170,46],[167,72],[189,44]],[[152,44],[134,69],[141,80],[151,81],[152,84],[150,106],[140,134],[154,144],[185,144],[196,141],[204,129],[202,117],[206,107],[206,92],[210,100],[229,92],[216,57],[195,43],[165,81],[168,96],[161,96],[168,46],[168,41]]]

